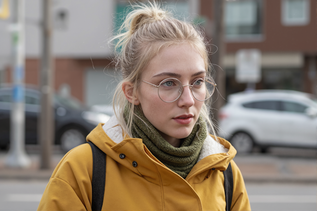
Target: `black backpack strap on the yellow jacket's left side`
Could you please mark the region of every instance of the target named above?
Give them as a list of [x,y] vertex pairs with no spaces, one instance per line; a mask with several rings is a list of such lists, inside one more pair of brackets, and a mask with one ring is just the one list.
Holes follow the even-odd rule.
[[93,142],[90,144],[93,151],[93,198],[91,209],[101,211],[104,202],[105,182],[106,182],[106,153],[101,151]]

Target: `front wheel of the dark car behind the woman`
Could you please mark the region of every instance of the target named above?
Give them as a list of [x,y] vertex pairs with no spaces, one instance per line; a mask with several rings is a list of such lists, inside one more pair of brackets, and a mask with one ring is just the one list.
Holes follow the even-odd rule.
[[66,129],[60,136],[61,149],[66,152],[85,142],[85,136],[79,129],[76,128]]

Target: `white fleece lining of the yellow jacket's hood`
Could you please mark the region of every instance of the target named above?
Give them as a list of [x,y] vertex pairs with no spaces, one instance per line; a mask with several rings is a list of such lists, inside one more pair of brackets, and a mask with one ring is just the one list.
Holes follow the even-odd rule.
[[[106,134],[111,138],[115,143],[120,143],[123,140],[122,128],[118,125],[118,120],[115,116],[112,116],[108,122],[103,126]],[[115,127],[116,126],[116,127]],[[207,138],[204,141],[203,147],[200,151],[198,161],[206,158],[207,156],[218,154],[218,153],[227,153],[229,149],[225,148],[222,144],[215,141],[210,135],[207,135]]]

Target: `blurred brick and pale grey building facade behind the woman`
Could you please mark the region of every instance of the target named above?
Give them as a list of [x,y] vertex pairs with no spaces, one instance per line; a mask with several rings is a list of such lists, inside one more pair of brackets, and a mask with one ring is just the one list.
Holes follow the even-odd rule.
[[[26,84],[39,82],[41,55],[41,1],[26,6]],[[124,7],[119,0],[54,0],[53,21],[55,90],[68,89],[86,105],[109,104],[119,76],[110,63],[106,43],[113,23]],[[123,3],[122,3],[123,2]],[[178,14],[204,20],[212,34],[212,0],[169,0]],[[262,52],[262,79],[257,89],[293,89],[316,94],[317,30],[315,0],[227,1],[226,94],[243,91],[235,81],[236,52],[257,48]],[[10,19],[0,20],[0,28]],[[0,84],[11,82],[10,35],[0,31]],[[212,40],[211,40],[212,42]]]

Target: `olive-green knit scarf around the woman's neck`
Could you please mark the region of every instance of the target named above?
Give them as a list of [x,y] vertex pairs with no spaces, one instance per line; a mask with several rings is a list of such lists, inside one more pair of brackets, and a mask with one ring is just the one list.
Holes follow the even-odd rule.
[[[129,116],[128,106],[125,107],[125,121]],[[200,150],[207,137],[207,125],[200,116],[192,132],[182,139],[179,148],[170,145],[147,120],[142,111],[135,109],[136,115],[132,122],[132,135],[141,138],[151,153],[166,167],[184,179],[197,163]],[[139,117],[139,118],[138,118]]]

